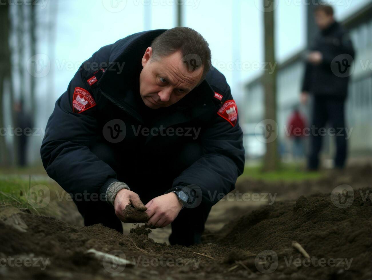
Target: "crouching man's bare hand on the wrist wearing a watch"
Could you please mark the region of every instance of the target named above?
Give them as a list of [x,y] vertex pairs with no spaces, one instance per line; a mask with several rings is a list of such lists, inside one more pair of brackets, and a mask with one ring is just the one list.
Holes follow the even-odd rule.
[[182,209],[177,194],[167,193],[151,199],[146,205],[150,217],[147,225],[150,228],[164,228],[176,219]]

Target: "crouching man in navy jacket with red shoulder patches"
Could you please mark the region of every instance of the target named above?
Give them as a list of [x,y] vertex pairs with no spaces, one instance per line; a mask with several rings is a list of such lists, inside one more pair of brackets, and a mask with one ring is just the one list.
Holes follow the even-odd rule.
[[[132,34],[85,61],[55,103],[41,146],[48,175],[86,226],[122,232],[127,205],[200,243],[211,207],[244,169],[238,109],[195,30]],[[145,204],[145,205],[144,205]]]

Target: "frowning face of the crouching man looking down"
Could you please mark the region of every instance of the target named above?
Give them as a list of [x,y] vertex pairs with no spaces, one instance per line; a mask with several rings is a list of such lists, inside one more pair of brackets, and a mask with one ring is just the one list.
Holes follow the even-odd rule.
[[151,109],[168,107],[186,96],[199,83],[203,67],[188,72],[182,62],[181,52],[168,57],[152,59],[152,48],[148,47],[143,58],[140,74],[140,94]]

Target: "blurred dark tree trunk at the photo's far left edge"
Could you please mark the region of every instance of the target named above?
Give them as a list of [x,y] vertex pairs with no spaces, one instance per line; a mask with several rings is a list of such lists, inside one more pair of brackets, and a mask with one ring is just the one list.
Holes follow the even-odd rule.
[[[4,124],[4,84],[9,79],[10,51],[9,51],[9,3],[5,1],[0,9],[0,128]],[[4,133],[1,131],[1,133]],[[9,163],[9,151],[5,136],[0,136],[0,165]]]

